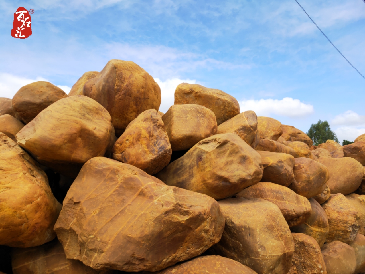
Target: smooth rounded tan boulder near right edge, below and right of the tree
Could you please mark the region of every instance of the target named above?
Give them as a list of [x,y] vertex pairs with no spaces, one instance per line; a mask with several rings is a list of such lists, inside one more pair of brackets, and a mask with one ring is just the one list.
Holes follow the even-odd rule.
[[320,157],[318,161],[324,164],[330,172],[330,179],[327,184],[331,194],[342,193],[347,195],[353,193],[360,186],[364,176],[364,167],[350,157],[328,158]]

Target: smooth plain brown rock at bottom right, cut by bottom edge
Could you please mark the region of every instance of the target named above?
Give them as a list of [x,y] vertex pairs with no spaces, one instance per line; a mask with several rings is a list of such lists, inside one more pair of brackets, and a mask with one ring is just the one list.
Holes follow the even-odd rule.
[[354,249],[341,241],[325,244],[322,256],[328,274],[354,274],[356,270]]

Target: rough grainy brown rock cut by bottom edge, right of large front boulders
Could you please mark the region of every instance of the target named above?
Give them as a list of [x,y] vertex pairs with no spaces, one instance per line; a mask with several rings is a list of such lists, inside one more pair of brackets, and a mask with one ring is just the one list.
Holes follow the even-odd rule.
[[311,236],[293,233],[295,251],[288,274],[327,274],[318,243]]

